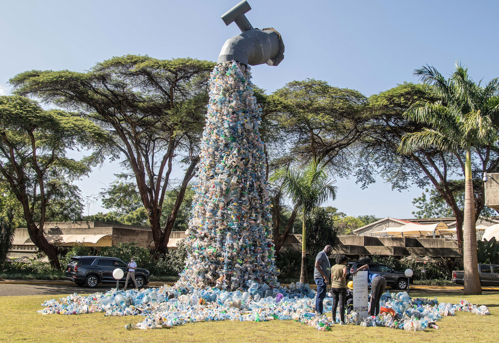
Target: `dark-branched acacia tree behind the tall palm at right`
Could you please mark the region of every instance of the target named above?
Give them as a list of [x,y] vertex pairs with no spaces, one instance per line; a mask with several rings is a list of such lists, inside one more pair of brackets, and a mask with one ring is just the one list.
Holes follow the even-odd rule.
[[[362,188],[376,181],[374,175],[379,175],[398,190],[407,189],[411,184],[421,188],[431,184],[456,217],[459,251],[463,256],[464,212],[453,180],[456,173],[463,171],[463,156],[458,158],[453,153],[435,147],[422,148],[405,155],[397,152],[405,134],[428,127],[404,117],[404,113],[418,102],[434,103],[438,100],[439,97],[424,85],[410,82],[372,95],[368,108],[371,121],[359,144],[355,176]],[[474,196],[475,217],[478,218],[485,207],[482,173],[498,170],[499,147],[497,144],[473,147],[471,153],[474,182],[481,185],[475,188]]]

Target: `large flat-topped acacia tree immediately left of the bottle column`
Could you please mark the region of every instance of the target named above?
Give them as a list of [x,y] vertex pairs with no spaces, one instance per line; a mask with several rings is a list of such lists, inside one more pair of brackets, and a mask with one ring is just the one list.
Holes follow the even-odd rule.
[[[189,181],[199,162],[199,141],[214,63],[126,55],[86,73],[32,70],[10,80],[15,92],[79,111],[107,130],[125,156],[146,208],[158,253],[167,244]],[[177,184],[174,164],[186,167],[175,204],[161,224],[166,191]]]

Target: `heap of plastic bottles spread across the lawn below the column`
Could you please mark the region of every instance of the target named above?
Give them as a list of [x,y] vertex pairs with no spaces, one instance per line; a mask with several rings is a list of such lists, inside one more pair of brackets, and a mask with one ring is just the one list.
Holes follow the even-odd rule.
[[[227,292],[219,288],[188,291],[184,287],[164,285],[141,291],[116,291],[81,296],[77,293],[59,300],[47,300],[38,313],[77,315],[104,312],[104,316],[143,316],[137,324],[125,329],[172,328],[185,323],[202,321],[254,321],[294,320],[321,331],[329,331],[339,323],[325,315],[316,316],[316,292],[308,284],[297,282],[287,287],[269,289],[268,285],[246,283],[247,291]],[[332,299],[324,300],[325,313],[331,312]],[[385,292],[380,303],[391,309],[376,318],[363,318],[358,313],[346,315],[346,323],[364,327],[388,327],[408,331],[438,329],[437,321],[454,316],[456,311],[489,315],[487,306],[477,307],[466,300],[459,304],[439,303],[437,298],[410,298],[407,292]],[[392,312],[392,313],[390,313]]]

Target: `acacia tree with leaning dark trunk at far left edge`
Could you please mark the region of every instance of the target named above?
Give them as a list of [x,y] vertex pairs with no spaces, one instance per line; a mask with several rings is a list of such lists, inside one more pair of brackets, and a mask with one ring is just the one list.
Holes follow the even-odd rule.
[[[31,241],[60,269],[57,246],[43,232],[45,222],[73,219],[83,205],[72,181],[87,175],[101,161],[110,137],[91,121],[71,113],[44,111],[37,102],[19,96],[0,97],[0,183],[22,207]],[[67,150],[95,149],[81,161]]]

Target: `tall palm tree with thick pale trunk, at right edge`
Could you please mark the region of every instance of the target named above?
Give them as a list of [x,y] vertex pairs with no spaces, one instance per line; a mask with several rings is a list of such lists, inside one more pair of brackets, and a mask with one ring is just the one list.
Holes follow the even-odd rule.
[[[464,293],[482,294],[478,273],[475,200],[472,182],[472,147],[492,145],[498,140],[499,82],[494,79],[485,87],[475,83],[468,68],[456,62],[456,70],[445,79],[434,67],[416,69],[414,75],[427,84],[441,100],[416,103],[404,115],[428,126],[420,132],[402,137],[399,152],[410,154],[434,148],[452,153],[465,174],[465,208],[463,222]],[[462,154],[466,155],[463,163]]]

